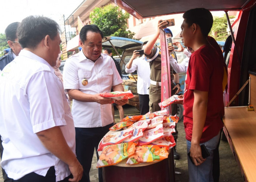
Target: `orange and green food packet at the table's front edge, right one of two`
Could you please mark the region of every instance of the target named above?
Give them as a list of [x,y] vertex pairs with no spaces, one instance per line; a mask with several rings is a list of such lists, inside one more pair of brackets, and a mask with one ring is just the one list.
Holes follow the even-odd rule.
[[168,157],[165,147],[162,149],[157,145],[137,146],[135,153],[127,160],[127,164],[138,164],[142,162],[161,161]]

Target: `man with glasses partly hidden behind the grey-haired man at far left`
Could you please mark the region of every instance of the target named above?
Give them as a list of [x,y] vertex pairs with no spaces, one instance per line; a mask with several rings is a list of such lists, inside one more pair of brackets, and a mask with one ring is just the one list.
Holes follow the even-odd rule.
[[17,38],[18,26],[19,22],[14,22],[5,29],[6,40],[11,49],[7,55],[0,58],[0,70],[3,70],[8,63],[14,60],[14,58],[19,55],[20,50],[22,50]]

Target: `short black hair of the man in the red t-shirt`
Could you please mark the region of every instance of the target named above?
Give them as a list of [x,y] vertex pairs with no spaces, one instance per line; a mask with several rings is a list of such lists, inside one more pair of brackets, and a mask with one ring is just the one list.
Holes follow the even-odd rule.
[[193,23],[199,25],[204,36],[208,36],[211,31],[213,17],[211,12],[205,8],[189,9],[183,14],[185,22],[190,27]]

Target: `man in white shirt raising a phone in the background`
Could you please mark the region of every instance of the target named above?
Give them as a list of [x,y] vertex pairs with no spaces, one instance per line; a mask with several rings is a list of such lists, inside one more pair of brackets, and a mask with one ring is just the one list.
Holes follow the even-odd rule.
[[[142,50],[146,47],[147,42],[142,43]],[[136,52],[136,50],[133,51],[131,59],[125,65],[125,72],[133,73],[137,70],[137,92],[139,94],[140,114],[144,115],[149,111],[148,88],[150,86],[150,66],[149,62],[146,62],[144,54],[142,57],[137,58],[139,55],[139,52]]]

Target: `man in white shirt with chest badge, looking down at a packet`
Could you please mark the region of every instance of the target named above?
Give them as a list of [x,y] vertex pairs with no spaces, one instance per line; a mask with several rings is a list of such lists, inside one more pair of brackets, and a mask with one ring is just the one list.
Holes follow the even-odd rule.
[[[101,54],[103,34],[96,25],[85,25],[80,33],[82,51],[69,58],[64,66],[64,88],[73,99],[72,115],[76,130],[76,155],[84,168],[82,182],[90,181],[89,171],[94,149],[97,151],[102,137],[113,126],[111,98],[99,94],[124,91],[113,59]],[[124,105],[128,100],[115,100]],[[98,158],[98,153],[97,153]],[[103,181],[102,168],[98,169]]]

